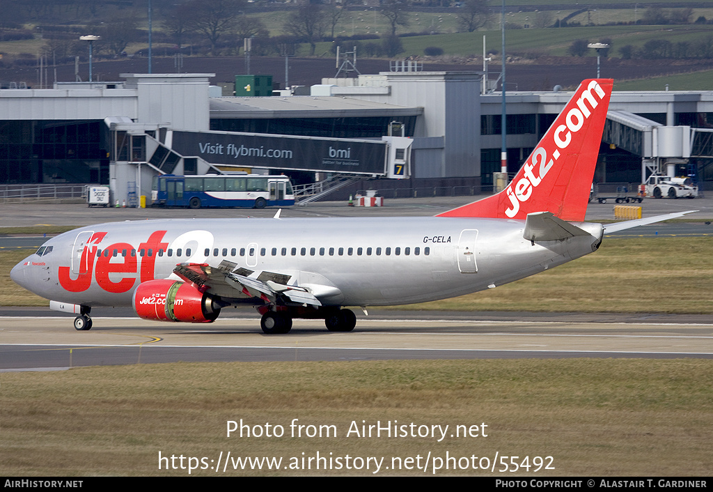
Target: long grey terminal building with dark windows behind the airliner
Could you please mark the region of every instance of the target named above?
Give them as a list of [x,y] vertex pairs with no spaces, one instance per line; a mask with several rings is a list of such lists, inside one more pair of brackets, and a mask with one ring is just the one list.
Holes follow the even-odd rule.
[[[151,177],[162,173],[341,173],[416,188],[487,187],[500,171],[502,96],[483,94],[482,72],[382,72],[270,97],[213,96],[212,76],[0,89],[0,187],[108,184],[121,200],[132,184],[150,196]],[[508,92],[508,171],[570,96]],[[389,149],[402,143],[389,134],[408,139],[401,175]],[[713,91],[612,94],[595,181],[637,183],[657,169],[712,181],[711,162]]]

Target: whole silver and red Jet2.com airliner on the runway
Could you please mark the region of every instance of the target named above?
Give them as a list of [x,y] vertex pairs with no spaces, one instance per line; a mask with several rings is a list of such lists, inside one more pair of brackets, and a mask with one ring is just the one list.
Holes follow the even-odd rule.
[[612,80],[586,80],[501,193],[435,217],[174,219],[83,227],[56,236],[11,277],[76,313],[133,306],[141,318],[210,323],[250,305],[265,333],[293,318],[352,331],[344,306],[434,301],[548,270],[602,243],[625,223],[584,222]]

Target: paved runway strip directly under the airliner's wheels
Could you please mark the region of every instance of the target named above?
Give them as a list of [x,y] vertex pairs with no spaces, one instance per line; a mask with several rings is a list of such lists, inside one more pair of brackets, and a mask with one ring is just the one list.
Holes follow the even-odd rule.
[[259,319],[205,326],[96,317],[75,331],[71,317],[6,317],[0,370],[48,370],[175,361],[349,361],[446,358],[713,358],[713,323],[470,321],[361,318],[352,333],[296,320],[267,336]]

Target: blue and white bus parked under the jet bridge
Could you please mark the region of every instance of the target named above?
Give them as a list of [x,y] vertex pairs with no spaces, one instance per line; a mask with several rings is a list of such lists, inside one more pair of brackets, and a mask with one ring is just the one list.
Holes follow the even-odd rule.
[[263,174],[207,174],[205,176],[154,176],[155,206],[251,207],[294,205],[292,183],[287,176]]

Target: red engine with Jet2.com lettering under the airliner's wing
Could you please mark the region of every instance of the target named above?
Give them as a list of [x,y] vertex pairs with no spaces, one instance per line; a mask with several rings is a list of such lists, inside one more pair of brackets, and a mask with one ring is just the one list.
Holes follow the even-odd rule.
[[143,319],[211,323],[220,314],[220,304],[213,296],[190,283],[175,280],[151,280],[140,283],[133,293],[133,308]]

